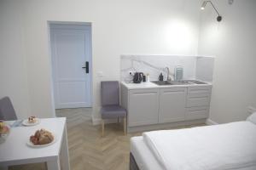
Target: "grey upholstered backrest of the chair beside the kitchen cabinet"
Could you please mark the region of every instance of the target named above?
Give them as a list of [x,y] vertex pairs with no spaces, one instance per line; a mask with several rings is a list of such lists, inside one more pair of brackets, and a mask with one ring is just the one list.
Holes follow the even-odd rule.
[[101,82],[102,106],[119,105],[119,82]]

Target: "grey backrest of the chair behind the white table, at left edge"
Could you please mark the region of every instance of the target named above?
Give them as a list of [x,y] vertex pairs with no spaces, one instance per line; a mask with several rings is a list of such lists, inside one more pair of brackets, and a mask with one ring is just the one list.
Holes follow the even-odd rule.
[[9,97],[0,99],[0,120],[13,121],[17,120],[14,106]]

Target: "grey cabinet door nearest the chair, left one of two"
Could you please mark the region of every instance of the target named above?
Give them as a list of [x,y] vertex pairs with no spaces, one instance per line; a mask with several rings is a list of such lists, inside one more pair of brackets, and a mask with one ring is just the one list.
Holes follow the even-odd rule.
[[158,123],[160,89],[129,91],[128,126]]

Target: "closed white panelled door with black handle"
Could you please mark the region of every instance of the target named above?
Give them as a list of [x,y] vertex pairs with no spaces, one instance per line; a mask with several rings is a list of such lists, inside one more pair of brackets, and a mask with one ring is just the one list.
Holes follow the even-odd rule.
[[91,106],[91,28],[50,24],[55,109]]

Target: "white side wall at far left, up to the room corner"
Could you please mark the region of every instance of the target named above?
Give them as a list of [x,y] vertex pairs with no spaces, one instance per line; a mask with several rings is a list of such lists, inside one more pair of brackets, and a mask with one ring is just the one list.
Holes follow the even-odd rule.
[[18,1],[0,1],[0,98],[10,97],[18,118],[30,112],[20,12]]

